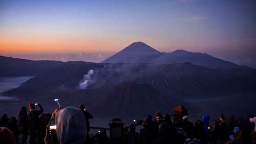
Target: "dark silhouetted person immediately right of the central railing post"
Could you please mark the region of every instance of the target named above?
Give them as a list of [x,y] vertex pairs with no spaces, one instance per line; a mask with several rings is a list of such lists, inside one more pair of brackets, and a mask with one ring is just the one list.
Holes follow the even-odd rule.
[[136,126],[132,124],[130,126],[130,131],[126,132],[123,136],[124,144],[136,144],[139,141],[139,133],[136,131]]

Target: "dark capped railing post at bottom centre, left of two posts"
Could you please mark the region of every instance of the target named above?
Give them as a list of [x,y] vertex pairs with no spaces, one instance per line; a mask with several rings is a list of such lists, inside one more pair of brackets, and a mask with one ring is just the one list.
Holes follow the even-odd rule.
[[112,118],[110,125],[110,143],[123,143],[123,125],[120,118]]

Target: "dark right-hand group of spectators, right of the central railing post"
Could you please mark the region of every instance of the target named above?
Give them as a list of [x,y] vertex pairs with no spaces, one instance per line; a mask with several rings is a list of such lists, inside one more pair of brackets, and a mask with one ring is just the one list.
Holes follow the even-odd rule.
[[158,111],[155,121],[152,121],[151,115],[144,119],[139,133],[132,124],[130,131],[124,134],[123,143],[256,143],[256,117],[243,125],[226,122],[223,114],[213,126],[209,124],[209,119],[208,115],[204,115],[194,125],[189,116],[183,116],[182,120],[176,119],[173,123],[168,114],[162,116]]

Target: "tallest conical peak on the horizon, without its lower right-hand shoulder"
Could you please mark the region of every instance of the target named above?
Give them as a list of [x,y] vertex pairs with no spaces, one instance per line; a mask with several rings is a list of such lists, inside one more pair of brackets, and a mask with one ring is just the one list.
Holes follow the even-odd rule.
[[137,58],[139,57],[150,56],[159,53],[160,52],[143,42],[134,42],[131,45],[125,47],[125,49],[122,51],[102,61],[102,63],[136,62]]

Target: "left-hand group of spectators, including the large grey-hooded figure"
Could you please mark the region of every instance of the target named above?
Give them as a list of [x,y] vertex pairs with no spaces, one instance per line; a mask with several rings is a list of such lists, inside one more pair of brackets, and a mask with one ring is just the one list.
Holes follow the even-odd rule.
[[[39,110],[36,110],[36,106]],[[61,107],[51,114],[42,114],[40,104],[29,103],[29,111],[23,106],[15,116],[3,114],[0,119],[0,143],[88,143],[93,115],[84,107]],[[57,128],[57,129],[56,129]],[[29,139],[28,139],[29,135]]]

